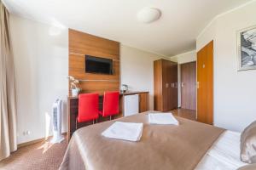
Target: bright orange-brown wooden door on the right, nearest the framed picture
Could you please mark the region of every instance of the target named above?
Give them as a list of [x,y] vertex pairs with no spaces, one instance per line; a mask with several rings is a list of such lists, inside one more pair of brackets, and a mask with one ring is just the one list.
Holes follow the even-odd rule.
[[197,53],[197,121],[213,123],[213,41]]

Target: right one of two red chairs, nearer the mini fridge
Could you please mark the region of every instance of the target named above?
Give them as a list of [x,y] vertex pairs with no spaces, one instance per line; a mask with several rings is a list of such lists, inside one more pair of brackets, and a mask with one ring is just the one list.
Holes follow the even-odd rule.
[[119,92],[105,92],[103,97],[103,109],[100,111],[102,116],[110,116],[119,114]]

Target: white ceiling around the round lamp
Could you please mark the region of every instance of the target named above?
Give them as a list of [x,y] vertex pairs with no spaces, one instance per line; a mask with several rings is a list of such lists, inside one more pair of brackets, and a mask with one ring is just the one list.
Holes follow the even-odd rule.
[[[195,49],[195,38],[218,14],[250,0],[4,0],[10,12],[61,24],[131,47],[172,56]],[[145,7],[160,8],[161,18],[137,21]]]

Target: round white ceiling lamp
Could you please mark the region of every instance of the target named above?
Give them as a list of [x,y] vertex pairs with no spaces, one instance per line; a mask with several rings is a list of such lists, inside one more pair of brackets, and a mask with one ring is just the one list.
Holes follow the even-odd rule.
[[155,20],[159,20],[161,11],[158,8],[143,8],[137,13],[137,20],[143,23],[151,23]]

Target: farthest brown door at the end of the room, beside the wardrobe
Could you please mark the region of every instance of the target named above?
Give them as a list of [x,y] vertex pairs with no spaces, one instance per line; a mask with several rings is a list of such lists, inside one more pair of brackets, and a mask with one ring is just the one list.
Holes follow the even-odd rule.
[[196,110],[196,62],[181,65],[181,107]]

